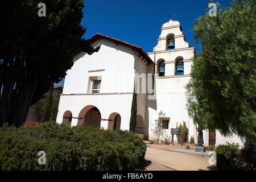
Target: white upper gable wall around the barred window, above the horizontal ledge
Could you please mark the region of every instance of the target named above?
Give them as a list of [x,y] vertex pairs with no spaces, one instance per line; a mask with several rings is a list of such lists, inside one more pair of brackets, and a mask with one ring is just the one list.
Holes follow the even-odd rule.
[[[88,55],[80,53],[74,59],[72,69],[67,71],[63,94],[87,93],[88,80],[101,76],[101,93],[133,92],[134,51],[109,40],[101,39],[93,46],[101,44],[100,51]],[[104,71],[97,71],[104,69]]]

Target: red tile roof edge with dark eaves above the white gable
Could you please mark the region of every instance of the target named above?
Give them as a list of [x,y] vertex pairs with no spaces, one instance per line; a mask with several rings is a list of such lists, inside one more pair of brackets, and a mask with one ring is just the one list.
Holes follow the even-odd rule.
[[91,42],[94,42],[95,40],[97,39],[107,39],[107,40],[111,40],[115,43],[119,43],[119,44],[123,44],[125,46],[129,46],[131,47],[132,49],[136,49],[140,54],[141,56],[147,60],[148,64],[154,64],[154,62],[150,59],[150,57],[147,55],[146,52],[143,51],[143,49],[139,46],[136,46],[134,44],[130,44],[128,42],[125,42],[125,41],[122,41],[122,40],[119,40],[119,39],[115,39],[115,38],[112,38],[110,36],[107,36],[107,35],[103,35],[103,34],[100,34],[100,33],[97,33],[95,35],[92,36],[92,38],[90,38],[90,41]]

